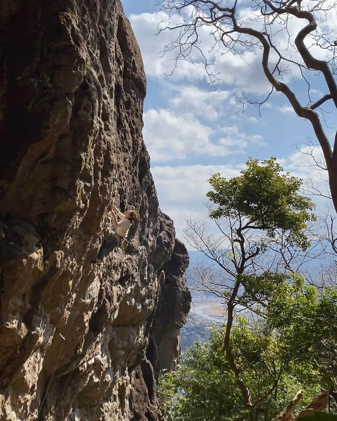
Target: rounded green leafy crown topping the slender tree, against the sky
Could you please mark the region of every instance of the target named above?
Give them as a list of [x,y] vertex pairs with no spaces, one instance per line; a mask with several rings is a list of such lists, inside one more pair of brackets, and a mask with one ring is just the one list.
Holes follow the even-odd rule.
[[315,220],[312,201],[298,194],[302,180],[283,174],[283,168],[271,157],[249,159],[241,175],[226,180],[219,173],[209,179],[213,190],[207,197],[217,205],[211,218],[246,218],[254,229],[261,229],[273,238],[275,229],[288,232],[288,239],[303,250],[310,244],[303,234],[308,221]]

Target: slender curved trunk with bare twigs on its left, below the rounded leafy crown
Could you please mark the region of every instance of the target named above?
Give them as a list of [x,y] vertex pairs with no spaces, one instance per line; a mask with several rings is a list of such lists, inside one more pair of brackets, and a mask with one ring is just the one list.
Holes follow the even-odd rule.
[[[235,375],[238,388],[241,390],[245,406],[250,410],[259,402],[251,401],[251,393],[242,378],[241,370],[236,364],[232,348],[230,346],[230,332],[234,320],[234,309],[238,304],[238,295],[241,287],[240,275],[251,266],[255,256],[259,254],[259,248],[251,243],[245,242],[244,234],[249,231],[249,224],[244,219],[233,220],[227,218],[223,223],[228,229],[224,229],[223,224],[217,220],[216,224],[221,232],[219,237],[208,232],[206,221],[195,219],[187,220],[185,236],[187,241],[196,250],[205,254],[211,261],[214,261],[223,271],[224,278],[218,280],[211,270],[201,266],[196,266],[195,280],[201,285],[205,285],[206,290],[217,294],[217,287],[224,286],[225,290],[219,290],[227,303],[227,322],[225,331],[225,352],[231,370]],[[218,282],[219,281],[219,282]],[[214,288],[215,287],[215,288]],[[270,390],[270,394],[273,389]],[[268,394],[269,396],[269,394]]]

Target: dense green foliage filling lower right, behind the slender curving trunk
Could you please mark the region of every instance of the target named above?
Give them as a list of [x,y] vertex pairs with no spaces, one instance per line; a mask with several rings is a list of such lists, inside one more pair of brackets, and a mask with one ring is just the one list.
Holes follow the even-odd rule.
[[[273,282],[273,280],[275,282]],[[329,387],[337,375],[337,290],[319,294],[294,274],[246,277],[247,291],[266,298],[265,317],[238,317],[230,335],[236,364],[252,401],[266,398],[252,411],[253,421],[272,420],[301,389],[301,409]],[[225,325],[213,328],[206,344],[187,350],[184,362],[169,374],[171,390],[180,390],[171,411],[174,421],[228,420],[245,407],[224,348]],[[272,393],[277,379],[277,386]],[[166,408],[171,405],[166,404]]]

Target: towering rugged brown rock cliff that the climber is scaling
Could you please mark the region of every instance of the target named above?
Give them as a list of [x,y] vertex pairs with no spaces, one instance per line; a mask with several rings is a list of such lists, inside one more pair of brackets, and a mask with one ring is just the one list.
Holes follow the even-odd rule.
[[[0,420],[159,420],[188,255],[158,208],[119,0],[0,3]],[[126,254],[93,265],[111,207]]]

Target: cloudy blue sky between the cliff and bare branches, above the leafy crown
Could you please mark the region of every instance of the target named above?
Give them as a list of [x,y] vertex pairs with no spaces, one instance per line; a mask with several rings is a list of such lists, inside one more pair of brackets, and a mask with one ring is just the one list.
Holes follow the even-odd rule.
[[[172,56],[166,54],[160,59],[159,53],[172,40],[172,34],[155,35],[163,12],[153,5],[153,0],[122,3],[142,51],[147,75],[143,136],[151,171],[160,208],[174,220],[179,238],[183,237],[187,216],[206,216],[202,200],[211,172],[219,171],[230,178],[238,174],[249,156],[263,159],[273,155],[287,171],[306,177],[308,168],[302,165],[303,155],[293,145],[307,136],[314,139],[313,130],[309,122],[294,114],[281,93],[274,93],[262,107],[262,118],[254,107],[238,113],[234,92],[244,91],[253,97],[261,93],[261,98],[270,89],[259,54],[246,56],[249,64],[230,54],[217,57],[214,70],[220,71],[219,92],[208,84],[201,64],[192,66],[181,61],[174,74],[166,76],[173,67]],[[320,25],[325,31],[329,29],[326,22]],[[198,57],[195,60],[198,63]],[[288,81],[306,105],[308,87],[296,69],[293,75]],[[310,83],[313,101],[327,93],[320,77],[311,78]],[[330,111],[329,104],[324,108]],[[326,133],[332,139],[336,118],[326,114],[326,119]]]

